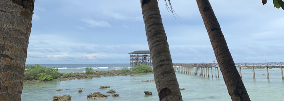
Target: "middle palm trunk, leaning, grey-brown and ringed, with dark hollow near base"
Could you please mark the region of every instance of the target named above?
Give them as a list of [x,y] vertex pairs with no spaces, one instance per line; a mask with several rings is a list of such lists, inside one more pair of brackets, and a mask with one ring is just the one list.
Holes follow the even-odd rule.
[[141,7],[159,100],[182,101],[158,2],[141,0]]

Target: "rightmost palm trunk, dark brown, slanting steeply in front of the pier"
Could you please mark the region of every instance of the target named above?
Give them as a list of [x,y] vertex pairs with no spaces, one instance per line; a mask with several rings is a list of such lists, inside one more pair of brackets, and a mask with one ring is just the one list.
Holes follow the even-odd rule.
[[232,101],[250,101],[209,1],[196,1]]

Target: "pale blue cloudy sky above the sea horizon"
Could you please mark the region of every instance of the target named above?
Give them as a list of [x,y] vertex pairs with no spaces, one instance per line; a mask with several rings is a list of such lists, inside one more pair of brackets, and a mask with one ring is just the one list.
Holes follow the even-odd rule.
[[[261,0],[209,0],[235,62],[284,62],[284,11]],[[159,8],[173,63],[216,61],[195,0]],[[149,50],[140,0],[36,0],[26,64],[129,63]]]

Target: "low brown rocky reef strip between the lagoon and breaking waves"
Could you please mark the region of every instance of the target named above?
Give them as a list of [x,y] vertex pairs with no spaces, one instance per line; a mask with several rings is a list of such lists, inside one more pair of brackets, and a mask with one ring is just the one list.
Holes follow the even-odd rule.
[[[127,76],[127,75],[140,75],[140,74],[151,74],[151,73],[153,72],[136,73],[136,72],[122,72],[120,70],[94,71],[93,74],[71,73],[71,76],[64,76],[64,73],[62,73],[61,78],[53,80],[65,81],[65,80],[75,80],[75,79],[92,79],[93,77],[102,77],[102,76]],[[39,80],[29,79],[29,80],[24,80],[24,82],[39,82]]]

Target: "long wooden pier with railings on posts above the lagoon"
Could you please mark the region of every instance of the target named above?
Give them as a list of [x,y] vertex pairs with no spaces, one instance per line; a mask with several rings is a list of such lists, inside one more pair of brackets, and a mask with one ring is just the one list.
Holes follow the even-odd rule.
[[[267,79],[269,79],[268,68],[280,68],[282,79],[283,77],[283,62],[269,62],[269,63],[235,63],[236,67],[239,68],[239,74],[242,77],[241,67],[251,68],[253,79],[255,79],[255,68],[265,68]],[[175,72],[186,73],[192,75],[206,76],[209,77],[209,69],[211,68],[211,76],[213,77],[213,68],[215,70],[215,78],[219,78],[219,65],[218,63],[173,63]],[[216,70],[217,69],[217,70]],[[206,73],[205,73],[206,72]]]

